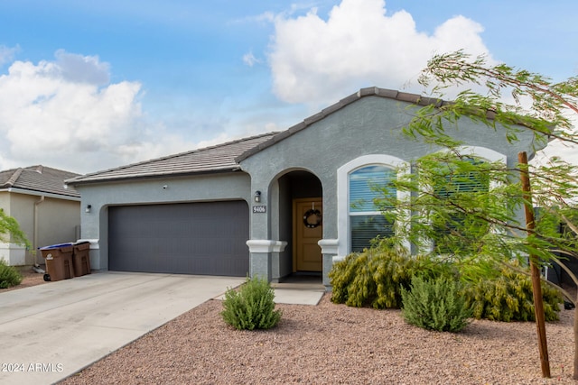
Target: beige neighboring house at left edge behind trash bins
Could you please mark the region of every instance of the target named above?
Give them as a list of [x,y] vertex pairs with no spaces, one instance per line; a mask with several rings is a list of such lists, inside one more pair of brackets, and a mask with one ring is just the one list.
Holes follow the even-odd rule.
[[0,243],[0,258],[9,265],[43,263],[39,247],[74,242],[80,226],[80,195],[64,180],[78,177],[44,166],[0,171],[0,208],[14,216],[32,244]]

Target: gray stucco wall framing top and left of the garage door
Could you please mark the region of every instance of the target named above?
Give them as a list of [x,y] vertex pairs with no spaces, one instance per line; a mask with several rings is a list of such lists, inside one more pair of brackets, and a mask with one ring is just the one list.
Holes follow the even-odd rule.
[[[122,205],[243,199],[251,202],[251,182],[244,172],[187,178],[159,178],[80,185],[82,239],[98,242],[91,250],[92,268],[108,268],[108,207]],[[90,205],[90,213],[86,207]]]

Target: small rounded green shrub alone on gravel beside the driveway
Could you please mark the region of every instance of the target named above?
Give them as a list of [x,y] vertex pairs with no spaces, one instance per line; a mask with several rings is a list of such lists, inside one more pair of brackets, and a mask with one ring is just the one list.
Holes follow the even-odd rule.
[[228,289],[223,301],[223,320],[239,330],[269,329],[281,319],[281,310],[275,310],[274,289],[267,280],[247,278],[241,288]]

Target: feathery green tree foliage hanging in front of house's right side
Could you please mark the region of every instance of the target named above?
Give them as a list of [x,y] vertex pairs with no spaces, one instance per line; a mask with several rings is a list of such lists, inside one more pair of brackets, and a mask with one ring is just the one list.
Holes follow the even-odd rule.
[[[413,107],[414,118],[404,133],[440,151],[416,160],[413,172],[392,182],[398,191],[406,192],[398,195],[405,199],[384,194],[379,202],[387,207],[385,215],[396,221],[399,242],[409,239],[421,252],[442,253],[457,261],[467,271],[465,279],[496,275],[496,263],[516,268],[519,261],[531,257],[544,265],[559,262],[578,283],[564,267],[564,259],[578,257],[576,166],[559,157],[529,166],[522,161],[484,160],[467,151],[471,143],[447,131],[471,120],[478,123],[480,137],[484,130],[492,130],[503,133],[513,148],[532,144],[530,155],[549,142],[576,145],[578,77],[555,82],[525,69],[492,66],[484,56],[471,57],[459,50],[434,56],[420,83],[432,87],[438,102]],[[462,90],[452,102],[445,102],[450,87]],[[525,142],[520,143],[521,138]],[[520,183],[521,172],[529,176],[531,194]],[[480,182],[476,188],[461,188],[475,185],[473,181]],[[520,213],[531,206],[540,207],[540,213],[527,225]],[[578,349],[578,322],[574,330]],[[578,355],[574,379],[578,380]]]

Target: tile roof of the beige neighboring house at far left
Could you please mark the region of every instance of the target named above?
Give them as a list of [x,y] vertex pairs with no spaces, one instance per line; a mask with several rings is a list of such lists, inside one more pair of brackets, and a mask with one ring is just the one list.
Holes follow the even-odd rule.
[[0,189],[18,188],[35,193],[80,197],[74,188],[64,188],[64,180],[78,177],[70,171],[52,169],[42,165],[0,171]]

